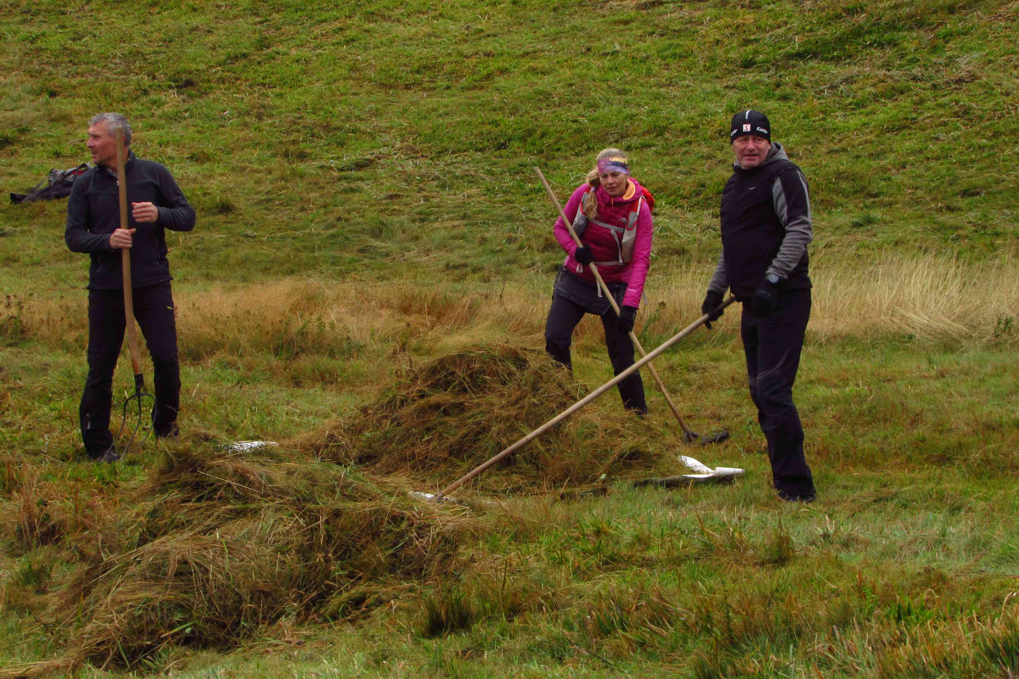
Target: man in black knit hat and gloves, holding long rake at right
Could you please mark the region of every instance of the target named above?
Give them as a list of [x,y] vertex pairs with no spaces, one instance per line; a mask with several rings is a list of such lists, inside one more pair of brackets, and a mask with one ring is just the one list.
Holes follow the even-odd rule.
[[721,256],[701,313],[709,321],[721,316],[718,305],[727,289],[743,302],[740,334],[750,397],[767,439],[772,483],[785,500],[812,502],[814,483],[793,403],[810,318],[807,244],[813,232],[807,180],[782,145],[771,143],[764,114],[740,111],[729,136],[736,162],[721,193]]

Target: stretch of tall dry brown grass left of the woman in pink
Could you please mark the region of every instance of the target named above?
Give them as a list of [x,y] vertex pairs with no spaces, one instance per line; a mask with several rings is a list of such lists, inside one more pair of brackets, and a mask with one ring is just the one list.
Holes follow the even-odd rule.
[[[420,341],[439,349],[493,336],[536,335],[547,306],[528,285],[461,289],[416,281],[329,282],[282,279],[257,286],[174,288],[181,358],[219,355],[357,357],[380,345]],[[17,340],[85,350],[84,297],[18,300]],[[6,317],[4,317],[6,318]],[[12,321],[13,322],[13,321]],[[144,348],[144,347],[143,347]],[[451,348],[451,347],[450,347]]]

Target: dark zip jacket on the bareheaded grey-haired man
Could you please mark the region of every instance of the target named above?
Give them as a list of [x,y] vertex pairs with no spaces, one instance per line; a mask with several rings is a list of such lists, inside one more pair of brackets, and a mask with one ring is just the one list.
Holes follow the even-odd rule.
[[[140,160],[127,153],[124,163],[127,181],[127,228],[131,236],[131,287],[172,280],[166,260],[164,229],[191,231],[195,209],[180,191],[173,175],[154,161]],[[131,203],[151,203],[159,208],[155,223],[139,224],[131,217]],[[89,288],[119,290],[123,287],[120,250],[110,247],[110,234],[120,227],[117,176],[110,168],[95,167],[74,182],[67,199],[67,226],[64,241],[72,252],[88,252]]]

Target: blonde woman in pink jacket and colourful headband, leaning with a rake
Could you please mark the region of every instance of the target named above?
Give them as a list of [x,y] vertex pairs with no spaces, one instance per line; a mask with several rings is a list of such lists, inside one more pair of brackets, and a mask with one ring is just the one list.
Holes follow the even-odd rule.
[[[577,246],[561,218],[555,222],[555,238],[567,259],[555,277],[552,306],[545,322],[545,350],[568,369],[572,370],[573,331],[585,314],[601,318],[615,375],[634,363],[630,331],[651,263],[649,199],[650,194],[630,176],[626,154],[605,149],[598,154],[597,166],[588,173],[587,181],[577,187],[564,209],[583,246]],[[653,205],[653,199],[651,202]],[[620,305],[620,317],[598,290],[590,269],[592,263]],[[623,407],[639,414],[647,412],[639,372],[621,382],[619,388]]]

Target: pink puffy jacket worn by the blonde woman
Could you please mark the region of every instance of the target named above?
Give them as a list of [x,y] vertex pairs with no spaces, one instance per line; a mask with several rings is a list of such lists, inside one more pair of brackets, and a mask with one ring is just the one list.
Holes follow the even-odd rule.
[[[635,202],[643,195],[643,191],[641,191],[637,180],[631,177],[630,181],[634,184],[635,188],[633,196],[630,199],[613,199],[601,186],[595,189],[594,195],[598,201],[597,219],[599,222],[626,224],[630,213],[634,209]],[[581,199],[589,188],[590,186],[587,183],[581,184],[573,192],[573,195],[570,196],[570,200],[567,201],[567,205],[562,209],[567,219],[571,221],[576,219],[577,212],[580,210]],[[601,278],[606,283],[628,284],[626,295],[623,297],[623,303],[628,306],[640,306],[641,294],[644,292],[644,281],[647,279],[647,270],[651,266],[652,228],[651,209],[648,207],[647,201],[643,201],[640,206],[640,212],[637,215],[637,236],[634,242],[633,259],[629,264],[622,266],[619,264],[599,264],[619,261],[620,240],[610,230],[597,224],[588,223],[587,228],[580,237],[581,242],[591,248],[594,262],[598,265],[598,273],[601,274]],[[574,252],[577,250],[577,243],[570,236],[570,231],[567,230],[561,217],[555,220],[555,239],[559,241],[559,245],[567,252],[564,266],[592,285],[597,285],[590,268],[581,267],[573,258]]]

